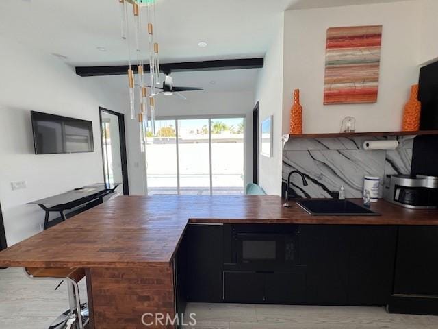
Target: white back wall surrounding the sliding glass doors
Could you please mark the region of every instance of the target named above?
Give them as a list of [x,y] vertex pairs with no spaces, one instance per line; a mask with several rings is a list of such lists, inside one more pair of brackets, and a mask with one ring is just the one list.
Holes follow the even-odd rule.
[[[105,79],[105,78],[100,78]],[[128,99],[125,96],[125,103]],[[245,120],[245,184],[253,178],[253,93],[252,92],[193,92],[186,93],[187,100],[179,97],[162,96],[157,98],[157,117],[213,116],[243,114]],[[118,111],[118,110],[116,110]],[[129,167],[129,194],[144,195],[146,184],[144,176],[144,156],[140,153],[138,121],[131,120],[129,109],[125,106],[127,127],[127,154]]]

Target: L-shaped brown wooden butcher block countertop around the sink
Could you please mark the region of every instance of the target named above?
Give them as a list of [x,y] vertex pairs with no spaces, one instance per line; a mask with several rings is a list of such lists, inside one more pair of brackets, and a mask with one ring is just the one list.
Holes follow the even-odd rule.
[[[361,200],[353,199],[360,203]],[[379,201],[381,216],[311,216],[281,197],[116,197],[0,252],[0,267],[153,267],[172,261],[188,223],[438,225],[438,210]]]

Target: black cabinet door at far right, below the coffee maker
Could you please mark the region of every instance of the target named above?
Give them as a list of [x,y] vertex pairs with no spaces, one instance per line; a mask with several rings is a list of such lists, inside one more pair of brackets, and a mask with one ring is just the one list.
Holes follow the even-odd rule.
[[394,293],[438,296],[437,226],[400,226]]

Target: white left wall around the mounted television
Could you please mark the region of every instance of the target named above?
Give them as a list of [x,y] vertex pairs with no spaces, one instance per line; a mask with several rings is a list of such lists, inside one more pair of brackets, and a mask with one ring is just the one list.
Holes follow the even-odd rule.
[[[0,202],[8,245],[41,230],[44,212],[27,202],[103,181],[99,106],[105,90],[53,56],[0,38]],[[93,121],[94,153],[35,155],[30,111]],[[27,182],[12,191],[11,182]]]

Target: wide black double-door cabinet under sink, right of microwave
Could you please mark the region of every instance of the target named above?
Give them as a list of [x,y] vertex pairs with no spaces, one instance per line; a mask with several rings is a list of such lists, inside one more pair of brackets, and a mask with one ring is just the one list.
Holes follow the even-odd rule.
[[394,273],[394,226],[300,226],[309,304],[385,305]]

